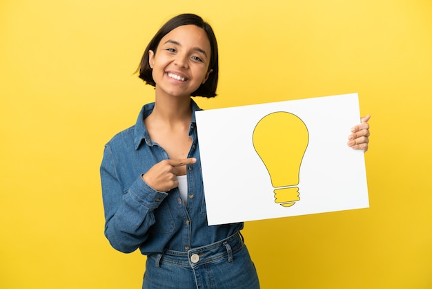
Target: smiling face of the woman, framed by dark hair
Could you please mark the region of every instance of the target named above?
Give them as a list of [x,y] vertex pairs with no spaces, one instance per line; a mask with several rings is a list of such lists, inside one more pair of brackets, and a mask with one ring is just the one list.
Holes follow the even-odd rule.
[[195,25],[179,26],[165,35],[156,52],[149,50],[156,95],[190,96],[206,82],[210,62],[210,41]]

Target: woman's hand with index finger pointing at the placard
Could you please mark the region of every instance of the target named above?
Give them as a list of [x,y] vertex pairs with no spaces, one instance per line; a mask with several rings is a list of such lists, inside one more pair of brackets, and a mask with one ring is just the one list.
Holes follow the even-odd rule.
[[146,174],[142,175],[143,180],[153,189],[159,192],[168,192],[179,186],[177,167],[190,165],[197,162],[196,158],[184,158],[181,160],[162,160],[151,167]]

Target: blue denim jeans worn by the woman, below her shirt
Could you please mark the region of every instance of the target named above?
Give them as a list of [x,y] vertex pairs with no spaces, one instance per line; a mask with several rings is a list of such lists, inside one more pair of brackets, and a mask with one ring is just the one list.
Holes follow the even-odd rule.
[[147,257],[143,289],[259,289],[255,265],[239,233],[187,252]]

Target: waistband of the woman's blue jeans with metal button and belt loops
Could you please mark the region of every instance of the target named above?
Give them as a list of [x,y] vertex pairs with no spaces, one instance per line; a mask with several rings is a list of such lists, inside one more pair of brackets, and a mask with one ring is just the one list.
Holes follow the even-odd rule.
[[195,268],[198,265],[211,263],[220,259],[233,261],[233,254],[240,250],[244,245],[243,236],[240,232],[229,236],[221,241],[192,248],[185,252],[165,250],[163,253],[153,253],[148,255],[154,259],[156,267],[161,263],[170,263],[184,267]]

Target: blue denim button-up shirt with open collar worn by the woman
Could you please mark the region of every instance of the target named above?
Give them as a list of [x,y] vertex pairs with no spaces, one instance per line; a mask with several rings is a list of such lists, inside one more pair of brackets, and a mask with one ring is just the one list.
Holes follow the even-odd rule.
[[[187,251],[225,239],[242,230],[243,223],[207,225],[193,100],[189,136],[193,143],[188,158],[197,162],[186,168],[188,202],[179,190],[159,192],[141,178],[150,167],[168,158],[168,153],[150,140],[144,125],[155,104],[146,104],[135,126],[114,136],[104,149],[101,163],[102,195],[105,209],[105,236],[116,250],[142,254],[164,250]],[[215,136],[217,137],[217,136]],[[227,200],[228,201],[228,200]]]

